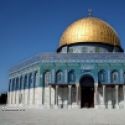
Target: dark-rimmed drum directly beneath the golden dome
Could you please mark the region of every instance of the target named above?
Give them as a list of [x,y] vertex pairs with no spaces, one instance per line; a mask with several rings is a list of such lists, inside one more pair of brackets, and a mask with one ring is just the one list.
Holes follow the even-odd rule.
[[109,44],[100,44],[100,43],[76,43],[61,46],[57,49],[58,53],[99,53],[99,52],[123,52],[123,49],[120,46],[112,46]]

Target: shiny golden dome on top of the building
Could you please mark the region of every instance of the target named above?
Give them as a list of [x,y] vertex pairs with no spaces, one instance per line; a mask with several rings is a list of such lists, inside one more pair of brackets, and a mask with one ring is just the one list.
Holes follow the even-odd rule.
[[63,33],[60,46],[84,42],[120,46],[115,30],[105,21],[95,17],[86,17],[72,23]]

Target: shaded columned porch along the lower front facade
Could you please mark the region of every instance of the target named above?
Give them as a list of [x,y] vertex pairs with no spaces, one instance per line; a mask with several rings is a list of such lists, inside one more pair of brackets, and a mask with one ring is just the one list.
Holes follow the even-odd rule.
[[[60,88],[67,89],[67,105],[64,103],[65,97],[63,95],[59,97]],[[55,90],[54,106],[59,108],[125,108],[125,85],[93,84],[93,86],[82,86],[81,83],[69,85],[50,84],[50,108],[53,108],[53,104],[51,104],[52,89]]]

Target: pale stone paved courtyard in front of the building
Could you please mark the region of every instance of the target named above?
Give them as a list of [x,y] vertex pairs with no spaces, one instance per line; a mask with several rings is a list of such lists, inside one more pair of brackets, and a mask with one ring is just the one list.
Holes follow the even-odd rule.
[[0,125],[125,125],[125,110],[0,110]]

